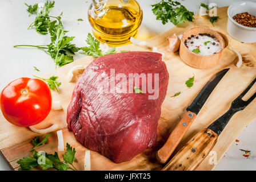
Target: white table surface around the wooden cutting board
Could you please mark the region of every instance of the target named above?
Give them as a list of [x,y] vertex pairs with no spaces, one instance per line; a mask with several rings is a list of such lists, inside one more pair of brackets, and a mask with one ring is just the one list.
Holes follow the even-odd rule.
[[[155,34],[161,34],[173,27],[173,24],[167,23],[162,25],[161,21],[155,20],[155,16],[151,12],[151,6],[160,0],[138,0],[143,10],[142,24],[149,28]],[[256,0],[251,0],[256,2]],[[35,2],[45,1],[13,1],[1,0],[0,2],[0,17],[1,17],[1,62],[0,62],[0,90],[6,84],[19,77],[32,77],[32,75],[43,75],[54,69],[53,60],[45,52],[34,48],[13,48],[17,44],[42,45],[49,42],[49,36],[39,35],[35,30],[27,30],[27,27],[33,22],[34,16],[28,16],[26,12],[26,2],[33,5]],[[201,2],[209,4],[210,2],[217,3],[218,7],[229,6],[235,0],[184,0],[179,1],[185,5],[188,10],[199,12]],[[55,7],[51,11],[51,15],[59,15],[63,11],[63,25],[65,30],[69,32],[67,35],[75,36],[74,43],[78,47],[85,46],[87,34],[91,32],[90,24],[87,20],[87,10],[91,1],[87,0],[55,0]],[[83,22],[78,22],[77,19],[82,18]],[[77,60],[84,55],[77,54],[74,59]],[[34,71],[33,66],[41,70]],[[245,127],[239,135],[239,143],[234,142],[229,151],[221,159],[221,162],[215,168],[216,170],[256,170],[256,159],[246,159],[243,157],[243,152],[239,148],[245,150],[256,151],[256,121],[253,121]],[[236,145],[238,144],[238,145]],[[0,170],[10,170],[5,160],[0,156]]]

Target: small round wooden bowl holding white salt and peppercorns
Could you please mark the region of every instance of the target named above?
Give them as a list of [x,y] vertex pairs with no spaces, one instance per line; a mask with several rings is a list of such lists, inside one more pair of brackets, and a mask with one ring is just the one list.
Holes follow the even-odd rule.
[[[219,43],[221,44],[221,51],[218,53],[215,53],[214,55],[209,55],[209,56],[202,56],[202,55],[197,55],[194,52],[189,51],[188,48],[185,46],[185,40],[189,38],[191,35],[198,35],[198,34],[210,34],[215,36],[217,40],[219,40]],[[213,68],[215,65],[219,63],[219,59],[221,58],[222,51],[225,48],[225,41],[222,38],[222,36],[214,31],[211,30],[210,28],[206,27],[194,27],[182,35],[181,38],[181,46],[179,47],[179,56],[181,56],[181,59],[184,63],[189,65],[190,67],[193,68],[198,68],[198,69],[206,69],[206,68]]]

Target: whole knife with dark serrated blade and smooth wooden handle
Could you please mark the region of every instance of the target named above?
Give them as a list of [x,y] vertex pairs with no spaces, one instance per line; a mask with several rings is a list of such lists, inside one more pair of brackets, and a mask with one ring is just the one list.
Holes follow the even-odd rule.
[[213,92],[215,86],[221,81],[222,77],[229,71],[229,68],[223,69],[221,72],[216,73],[211,79],[203,86],[202,90],[195,97],[194,101],[187,107],[187,113],[175,127],[170,134],[166,143],[157,151],[157,160],[159,163],[166,163],[170,158],[173,151],[178,146],[181,139],[186,134],[187,130],[191,126],[197,114],[201,110],[203,104],[205,104],[207,98]]

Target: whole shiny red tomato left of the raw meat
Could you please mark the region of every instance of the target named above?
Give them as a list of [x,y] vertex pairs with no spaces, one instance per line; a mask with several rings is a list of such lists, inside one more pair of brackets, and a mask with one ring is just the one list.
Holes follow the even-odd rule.
[[1,92],[3,116],[17,126],[32,126],[47,117],[51,110],[51,92],[39,79],[18,78]]

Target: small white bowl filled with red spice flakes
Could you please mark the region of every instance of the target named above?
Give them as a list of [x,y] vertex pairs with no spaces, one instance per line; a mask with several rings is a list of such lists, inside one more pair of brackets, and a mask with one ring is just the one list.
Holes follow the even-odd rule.
[[243,43],[256,42],[256,3],[235,2],[227,10],[227,32]]

